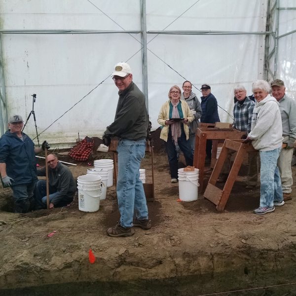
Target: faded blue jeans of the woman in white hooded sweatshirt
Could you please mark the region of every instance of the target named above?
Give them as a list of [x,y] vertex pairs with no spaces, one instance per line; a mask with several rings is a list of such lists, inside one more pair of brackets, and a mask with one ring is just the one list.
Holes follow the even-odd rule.
[[260,153],[260,207],[273,207],[273,202],[283,200],[280,172],[277,167],[281,148]]

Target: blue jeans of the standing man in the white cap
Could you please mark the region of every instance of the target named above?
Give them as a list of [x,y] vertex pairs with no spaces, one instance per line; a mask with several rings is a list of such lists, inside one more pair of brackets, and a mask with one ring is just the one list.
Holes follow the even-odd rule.
[[146,140],[126,140],[118,142],[117,200],[120,212],[120,225],[124,228],[133,225],[134,209],[140,220],[148,219],[148,208],[143,183],[140,180],[141,160],[145,156]]

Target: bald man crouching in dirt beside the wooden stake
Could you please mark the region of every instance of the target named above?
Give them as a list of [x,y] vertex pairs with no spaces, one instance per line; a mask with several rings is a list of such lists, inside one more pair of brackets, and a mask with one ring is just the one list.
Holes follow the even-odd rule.
[[[76,184],[69,168],[60,163],[55,154],[47,156],[49,208],[64,207],[73,201]],[[46,176],[45,167],[37,169],[37,176]],[[46,208],[46,181],[39,180],[35,190],[36,209]]]

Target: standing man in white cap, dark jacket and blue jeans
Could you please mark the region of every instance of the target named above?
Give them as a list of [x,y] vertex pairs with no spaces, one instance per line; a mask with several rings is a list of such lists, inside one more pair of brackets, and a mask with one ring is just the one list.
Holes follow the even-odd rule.
[[[130,66],[127,63],[116,64],[112,76],[119,89],[119,99],[114,122],[107,127],[103,140],[109,146],[111,137],[119,138],[116,192],[120,220],[107,229],[107,234],[131,236],[135,233],[133,226],[142,229],[151,227],[139,173],[141,159],[145,156],[149,120],[145,96],[133,82]],[[134,209],[136,218],[133,221]]]

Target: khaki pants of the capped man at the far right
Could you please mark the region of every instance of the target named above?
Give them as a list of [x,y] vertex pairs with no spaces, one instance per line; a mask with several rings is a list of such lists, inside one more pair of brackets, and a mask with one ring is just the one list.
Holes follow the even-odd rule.
[[[289,137],[284,137],[283,142],[288,141]],[[283,193],[291,193],[293,185],[291,161],[294,149],[283,148],[278,158],[277,166],[280,170]]]

